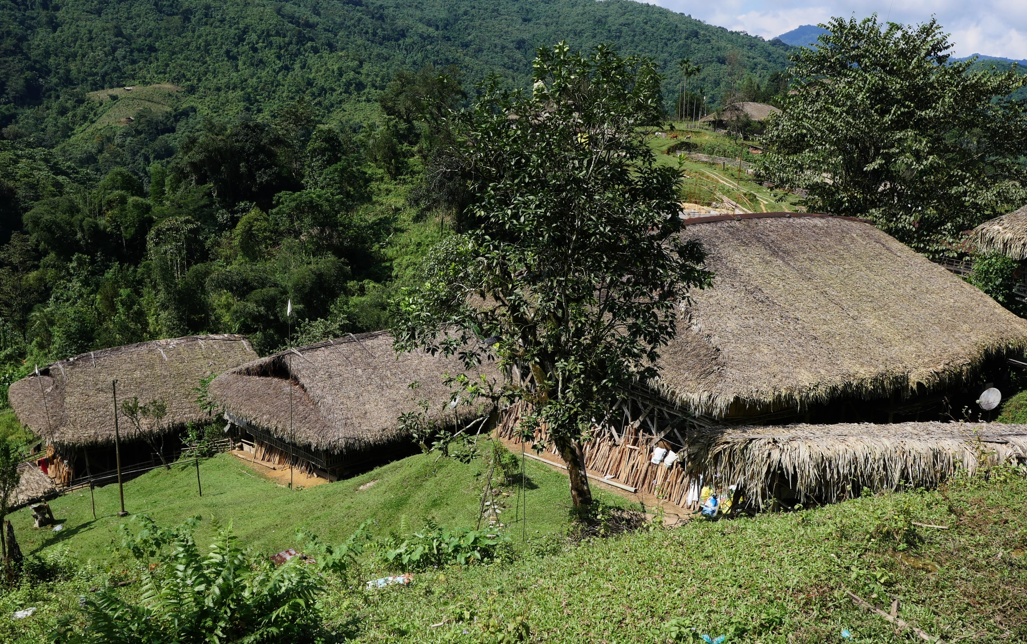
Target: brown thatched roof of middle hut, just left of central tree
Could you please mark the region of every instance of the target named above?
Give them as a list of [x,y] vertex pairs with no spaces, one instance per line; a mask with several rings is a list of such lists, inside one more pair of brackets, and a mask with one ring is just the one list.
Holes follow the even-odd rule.
[[[216,378],[210,390],[230,417],[277,439],[348,452],[408,438],[398,416],[420,411],[422,399],[429,403],[430,420],[452,423],[455,414],[461,422],[476,417],[478,406],[449,407],[451,388],[443,382],[444,374],[462,371],[455,358],[442,355],[396,356],[392,336],[375,332],[243,365]],[[415,381],[416,390],[410,387]]]

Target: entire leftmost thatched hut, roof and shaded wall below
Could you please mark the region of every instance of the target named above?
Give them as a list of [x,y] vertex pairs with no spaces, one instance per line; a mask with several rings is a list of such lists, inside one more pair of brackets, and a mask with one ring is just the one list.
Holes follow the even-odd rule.
[[[10,405],[18,420],[46,441],[41,466],[59,485],[70,485],[115,468],[112,381],[118,381],[119,406],[134,396],[141,405],[154,400],[166,405],[159,424],[144,430],[170,457],[186,423],[211,420],[197,403],[201,379],[256,357],[246,339],[236,335],[190,336],[90,351],[51,363],[38,375],[13,383]],[[118,429],[123,470],[159,462],[153,446],[120,410]]]

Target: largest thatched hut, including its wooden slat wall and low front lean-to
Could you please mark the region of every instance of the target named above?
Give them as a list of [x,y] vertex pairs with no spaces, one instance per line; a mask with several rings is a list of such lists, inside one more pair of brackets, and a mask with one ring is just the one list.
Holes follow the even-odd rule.
[[[915,434],[918,425],[910,423],[929,428],[917,448],[929,458],[931,435],[962,430],[928,421],[964,407],[980,410],[975,400],[986,386],[1007,391],[1007,358],[1027,348],[1027,320],[861,220],[768,213],[686,224],[683,234],[707,251],[713,286],[692,293],[677,337],[660,351],[660,376],[625,391],[609,424],[593,428],[586,465],[600,477],[687,504],[699,476],[720,473],[700,458],[710,437],[756,435],[732,427],[814,423],[789,435],[807,443],[821,437],[815,458],[832,461],[847,479],[890,485],[874,479],[890,467],[887,459],[899,458],[886,447],[888,432]],[[524,411],[508,410],[500,435],[518,440],[514,427]],[[900,422],[904,428],[891,424]],[[858,430],[879,449],[842,467],[847,448],[835,447],[859,443],[838,439],[853,430],[850,423],[877,423]],[[779,449],[773,442],[747,445],[731,448],[740,455],[732,466],[769,462]],[[656,467],[670,453],[680,458]],[[782,467],[752,465],[741,478],[763,494]],[[909,483],[933,481],[924,468],[909,471]]]

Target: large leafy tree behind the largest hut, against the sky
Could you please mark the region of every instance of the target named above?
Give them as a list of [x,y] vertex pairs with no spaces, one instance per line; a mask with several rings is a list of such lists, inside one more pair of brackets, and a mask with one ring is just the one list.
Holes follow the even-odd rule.
[[1027,78],[953,62],[931,20],[834,18],[800,49],[793,91],[766,134],[763,173],[808,191],[809,210],[872,219],[933,257],[1027,201]]

